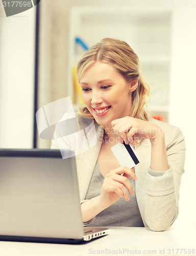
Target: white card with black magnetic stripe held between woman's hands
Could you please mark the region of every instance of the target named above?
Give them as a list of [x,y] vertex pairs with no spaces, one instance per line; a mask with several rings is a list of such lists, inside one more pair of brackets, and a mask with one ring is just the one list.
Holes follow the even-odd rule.
[[115,146],[111,147],[111,150],[121,166],[132,168],[140,162],[130,143],[117,143]]

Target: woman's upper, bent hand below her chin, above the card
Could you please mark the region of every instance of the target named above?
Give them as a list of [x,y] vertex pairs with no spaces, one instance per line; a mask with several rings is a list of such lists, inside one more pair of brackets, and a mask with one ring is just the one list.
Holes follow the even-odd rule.
[[120,142],[135,144],[135,140],[150,139],[154,142],[162,132],[161,128],[149,121],[134,117],[123,117],[112,121],[114,132],[119,136]]

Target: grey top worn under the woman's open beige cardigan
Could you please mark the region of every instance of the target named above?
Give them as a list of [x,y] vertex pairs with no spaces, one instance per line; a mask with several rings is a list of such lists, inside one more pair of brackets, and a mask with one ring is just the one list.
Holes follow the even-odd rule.
[[[144,226],[135,196],[135,181],[132,178],[129,180],[133,186],[134,196],[130,196],[128,202],[124,198],[120,198],[117,202],[100,212],[88,226]],[[103,181],[104,176],[101,173],[98,162],[96,162],[85,200],[100,195]]]

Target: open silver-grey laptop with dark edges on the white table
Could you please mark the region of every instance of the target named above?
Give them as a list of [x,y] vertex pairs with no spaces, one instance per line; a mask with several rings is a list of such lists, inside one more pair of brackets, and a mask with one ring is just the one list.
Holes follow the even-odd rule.
[[0,240],[81,243],[109,231],[83,227],[75,157],[0,149]]

